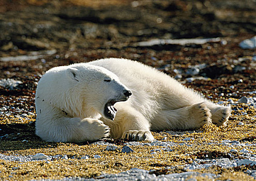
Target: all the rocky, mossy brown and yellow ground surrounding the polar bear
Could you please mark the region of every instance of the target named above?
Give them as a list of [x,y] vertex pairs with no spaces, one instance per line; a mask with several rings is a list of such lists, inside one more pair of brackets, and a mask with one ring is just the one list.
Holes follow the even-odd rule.
[[[256,179],[256,51],[239,46],[256,35],[255,9],[249,0],[1,0],[0,180]],[[42,74],[103,57],[145,63],[231,105],[227,126],[153,132],[153,143],[43,142]]]

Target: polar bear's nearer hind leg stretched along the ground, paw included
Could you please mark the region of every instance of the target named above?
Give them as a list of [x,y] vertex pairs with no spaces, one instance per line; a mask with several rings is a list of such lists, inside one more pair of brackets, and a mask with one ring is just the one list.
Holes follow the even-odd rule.
[[195,103],[174,110],[163,110],[152,121],[152,129],[196,129],[211,123],[211,116],[206,102]]

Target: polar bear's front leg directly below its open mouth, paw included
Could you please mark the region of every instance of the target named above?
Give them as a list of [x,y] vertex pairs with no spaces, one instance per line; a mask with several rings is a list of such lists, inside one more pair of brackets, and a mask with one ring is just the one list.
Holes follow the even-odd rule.
[[104,124],[110,127],[111,137],[114,139],[128,139],[133,141],[155,140],[150,132],[148,120],[134,108],[116,106],[117,114],[114,121],[102,118]]

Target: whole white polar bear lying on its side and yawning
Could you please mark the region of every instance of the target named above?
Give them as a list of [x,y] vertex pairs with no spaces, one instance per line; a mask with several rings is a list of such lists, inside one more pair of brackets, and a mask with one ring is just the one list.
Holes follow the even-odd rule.
[[227,122],[217,105],[167,74],[136,61],[105,58],[50,69],[36,90],[36,134],[45,141],[153,141],[150,130]]

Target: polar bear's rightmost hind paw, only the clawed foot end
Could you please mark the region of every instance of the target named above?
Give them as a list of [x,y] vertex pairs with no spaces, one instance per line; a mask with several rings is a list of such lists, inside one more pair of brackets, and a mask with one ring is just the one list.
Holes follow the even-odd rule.
[[217,107],[212,112],[212,120],[214,124],[217,124],[218,126],[225,125],[225,122],[227,122],[229,116],[231,114],[230,107]]

